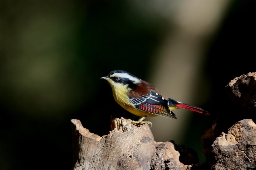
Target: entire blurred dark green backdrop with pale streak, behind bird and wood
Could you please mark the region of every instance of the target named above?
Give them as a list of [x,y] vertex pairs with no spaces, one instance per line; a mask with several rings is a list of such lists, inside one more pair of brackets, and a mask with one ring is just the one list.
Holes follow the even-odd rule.
[[0,1],[1,169],[70,169],[71,119],[97,135],[137,117],[100,78],[126,70],[167,97],[199,106],[147,118],[155,141],[201,154],[225,117],[224,87],[256,71],[256,1]]

